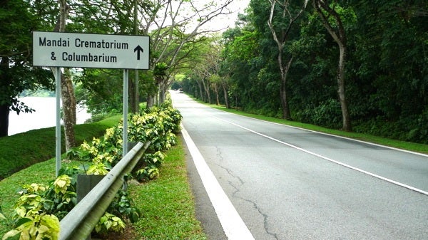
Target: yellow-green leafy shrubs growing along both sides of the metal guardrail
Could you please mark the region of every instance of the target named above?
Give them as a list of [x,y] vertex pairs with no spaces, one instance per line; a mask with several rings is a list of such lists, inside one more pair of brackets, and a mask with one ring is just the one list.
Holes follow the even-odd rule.
[[[165,155],[161,151],[176,145],[174,132],[180,129],[181,115],[165,102],[162,108],[150,108],[131,116],[128,134],[135,142],[151,142],[146,154],[133,173],[138,181],[158,177]],[[3,239],[21,236],[20,239],[57,239],[59,221],[76,205],[77,174],[106,175],[122,156],[123,122],[108,128],[103,137],[67,152],[68,160],[78,160],[78,165],[61,168],[59,176],[49,184],[26,183],[19,191],[14,204],[11,223],[14,229]],[[83,161],[83,162],[81,162]],[[1,209],[0,209],[1,210]],[[3,216],[3,215],[0,215]],[[140,211],[126,190],[116,193],[106,213],[95,227],[97,233],[120,232],[125,229],[124,219],[138,221]]]

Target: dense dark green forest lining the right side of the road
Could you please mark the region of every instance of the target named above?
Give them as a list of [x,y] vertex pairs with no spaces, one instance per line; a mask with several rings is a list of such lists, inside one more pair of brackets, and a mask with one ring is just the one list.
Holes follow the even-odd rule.
[[[428,143],[427,1],[311,0],[297,19],[304,1],[272,2],[250,1],[238,25],[213,44],[220,51],[205,51],[196,67],[202,71],[174,87],[251,113]],[[349,128],[338,95],[341,47]]]

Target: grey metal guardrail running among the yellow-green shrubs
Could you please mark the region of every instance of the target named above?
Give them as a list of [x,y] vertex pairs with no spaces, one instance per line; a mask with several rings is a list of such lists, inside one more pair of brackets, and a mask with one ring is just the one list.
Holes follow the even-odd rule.
[[116,193],[123,185],[123,176],[132,171],[143,157],[150,142],[138,142],[118,164],[96,184],[91,192],[60,221],[59,240],[86,239],[106,212]]

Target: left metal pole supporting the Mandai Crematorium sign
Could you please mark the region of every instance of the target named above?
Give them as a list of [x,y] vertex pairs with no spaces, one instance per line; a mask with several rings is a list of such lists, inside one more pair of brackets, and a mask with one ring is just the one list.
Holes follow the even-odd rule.
[[55,68],[55,96],[56,96],[56,177],[61,169],[61,68]]

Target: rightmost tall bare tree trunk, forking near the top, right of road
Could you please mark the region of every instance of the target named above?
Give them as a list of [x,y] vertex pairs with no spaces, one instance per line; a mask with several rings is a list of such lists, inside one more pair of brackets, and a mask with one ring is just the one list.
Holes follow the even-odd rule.
[[342,18],[337,11],[337,1],[312,0],[312,5],[322,19],[327,31],[339,46],[339,62],[337,66],[337,93],[339,95],[340,107],[342,108],[342,129],[351,131],[350,113],[347,108],[345,95],[345,64],[347,61],[347,36]]

